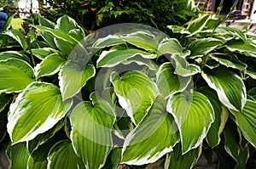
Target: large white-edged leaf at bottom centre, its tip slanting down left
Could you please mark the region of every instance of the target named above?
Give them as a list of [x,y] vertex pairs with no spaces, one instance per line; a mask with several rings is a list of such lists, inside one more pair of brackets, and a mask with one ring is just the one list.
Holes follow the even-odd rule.
[[148,115],[125,138],[122,162],[143,165],[159,160],[179,141],[177,131],[172,115],[166,112],[166,99],[159,95]]

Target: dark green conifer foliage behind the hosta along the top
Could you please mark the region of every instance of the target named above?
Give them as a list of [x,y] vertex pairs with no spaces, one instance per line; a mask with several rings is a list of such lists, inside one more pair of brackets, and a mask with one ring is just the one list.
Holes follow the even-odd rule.
[[[166,25],[183,25],[199,13],[188,0],[48,0],[41,3],[40,13],[49,20],[67,14],[86,30],[97,30],[117,23],[152,25],[161,31]],[[49,8],[45,4],[49,4]]]

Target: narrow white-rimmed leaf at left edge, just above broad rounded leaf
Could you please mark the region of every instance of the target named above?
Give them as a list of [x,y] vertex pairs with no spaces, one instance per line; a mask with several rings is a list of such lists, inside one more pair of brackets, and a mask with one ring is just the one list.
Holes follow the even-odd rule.
[[21,59],[26,61],[27,63],[30,62],[30,60],[27,58],[25,54],[20,54],[17,51],[6,51],[0,53],[0,60],[7,60],[7,59]]

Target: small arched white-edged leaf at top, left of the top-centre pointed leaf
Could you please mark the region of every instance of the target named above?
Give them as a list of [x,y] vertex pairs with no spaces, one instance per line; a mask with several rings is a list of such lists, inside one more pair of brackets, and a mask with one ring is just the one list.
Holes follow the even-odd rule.
[[120,37],[108,35],[107,37],[102,37],[96,40],[96,42],[93,43],[93,48],[107,48],[112,47],[115,45],[121,45],[125,44],[125,41],[122,40]]

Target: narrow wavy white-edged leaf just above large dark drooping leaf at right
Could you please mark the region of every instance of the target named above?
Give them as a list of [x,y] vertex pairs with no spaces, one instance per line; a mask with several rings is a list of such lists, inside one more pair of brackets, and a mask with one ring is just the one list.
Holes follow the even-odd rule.
[[233,69],[237,69],[237,70],[245,70],[247,68],[247,65],[244,64],[243,62],[241,62],[236,55],[215,55],[215,54],[210,54],[210,57],[216,61],[218,61],[218,63],[220,63],[221,65],[225,65],[226,67],[230,67]]

